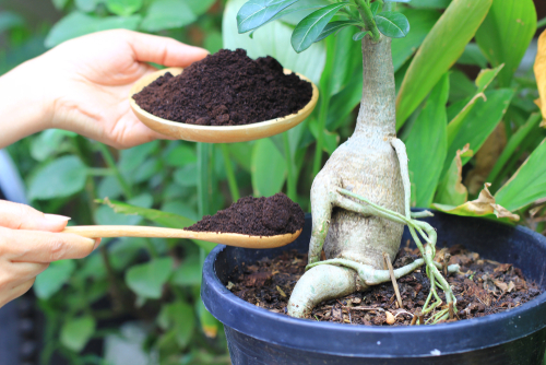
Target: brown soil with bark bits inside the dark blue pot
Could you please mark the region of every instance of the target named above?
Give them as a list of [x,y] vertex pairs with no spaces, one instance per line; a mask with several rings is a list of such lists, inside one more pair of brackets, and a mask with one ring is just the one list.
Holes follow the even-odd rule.
[[[510,263],[483,259],[461,245],[438,250],[437,259],[446,252],[451,255],[450,264],[461,266],[459,273],[447,278],[459,309],[454,318],[448,321],[510,310],[541,294],[536,283],[525,281],[521,270]],[[400,268],[419,257],[418,249],[403,247],[393,266]],[[242,263],[239,268],[242,274],[234,272],[227,289],[250,304],[286,314],[292,291],[304,274],[306,264],[307,254],[298,254],[295,250],[285,251],[273,259],[265,258],[254,264]],[[308,318],[366,326],[411,325],[413,315],[420,311],[429,293],[430,285],[424,267],[399,279],[397,285],[403,308],[397,307],[394,289],[389,282],[371,286],[365,292],[323,302]],[[442,291],[438,290],[438,293]],[[440,296],[446,299],[443,293]],[[387,311],[394,317],[392,325],[387,322]],[[425,316],[424,319],[431,315]]]

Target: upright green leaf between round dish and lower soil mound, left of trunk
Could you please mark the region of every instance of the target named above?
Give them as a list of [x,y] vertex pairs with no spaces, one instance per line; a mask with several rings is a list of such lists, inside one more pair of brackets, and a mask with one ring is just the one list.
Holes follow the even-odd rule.
[[271,139],[257,141],[251,166],[254,196],[271,197],[281,191],[286,178],[286,161]]

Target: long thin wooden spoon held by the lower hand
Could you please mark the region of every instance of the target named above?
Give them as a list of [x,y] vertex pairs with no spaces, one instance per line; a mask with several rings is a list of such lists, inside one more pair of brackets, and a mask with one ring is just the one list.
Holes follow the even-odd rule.
[[237,233],[193,232],[175,228],[144,227],[132,225],[75,225],[66,227],[63,233],[73,233],[88,238],[104,237],[161,237],[191,238],[245,248],[273,248],[293,243],[301,229],[276,236],[250,236]]

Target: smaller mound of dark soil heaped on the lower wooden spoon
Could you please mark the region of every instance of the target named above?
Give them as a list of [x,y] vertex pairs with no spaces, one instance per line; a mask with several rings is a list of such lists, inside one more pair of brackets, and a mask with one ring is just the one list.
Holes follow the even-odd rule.
[[197,232],[240,233],[253,236],[275,236],[295,233],[304,227],[301,208],[284,193],[269,198],[245,197],[229,208],[186,228]]

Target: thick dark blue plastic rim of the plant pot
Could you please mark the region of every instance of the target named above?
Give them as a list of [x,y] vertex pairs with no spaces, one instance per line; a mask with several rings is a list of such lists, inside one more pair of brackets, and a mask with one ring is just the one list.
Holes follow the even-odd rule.
[[[509,228],[546,248],[546,237],[523,226]],[[225,326],[278,345],[358,357],[435,356],[495,346],[546,327],[546,292],[503,313],[434,326],[351,326],[293,318],[251,305],[222,284],[214,262],[226,248],[215,247],[203,264],[201,296],[206,309]],[[225,303],[217,303],[219,298]]]

